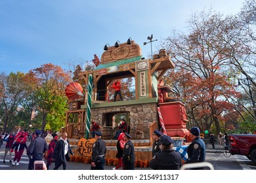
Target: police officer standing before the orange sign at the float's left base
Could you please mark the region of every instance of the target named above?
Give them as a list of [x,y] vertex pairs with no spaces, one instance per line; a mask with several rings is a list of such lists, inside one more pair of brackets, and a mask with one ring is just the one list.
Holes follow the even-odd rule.
[[91,170],[104,170],[106,142],[101,139],[102,133],[95,131],[95,143],[93,144],[93,154],[91,156]]

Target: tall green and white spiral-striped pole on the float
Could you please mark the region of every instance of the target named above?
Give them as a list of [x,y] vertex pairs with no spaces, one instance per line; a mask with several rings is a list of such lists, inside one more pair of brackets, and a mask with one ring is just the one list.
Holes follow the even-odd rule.
[[92,85],[93,85],[93,75],[90,74],[89,78],[88,78],[88,97],[87,97],[87,113],[86,113],[85,139],[89,139],[89,133],[90,133]]

